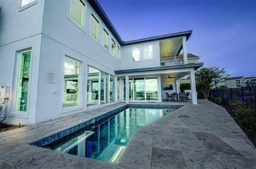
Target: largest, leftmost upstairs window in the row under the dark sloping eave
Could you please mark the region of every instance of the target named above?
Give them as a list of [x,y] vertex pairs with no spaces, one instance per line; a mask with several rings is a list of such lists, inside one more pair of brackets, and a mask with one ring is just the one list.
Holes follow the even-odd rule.
[[84,28],[84,10],[85,6],[80,0],[71,1],[71,18]]

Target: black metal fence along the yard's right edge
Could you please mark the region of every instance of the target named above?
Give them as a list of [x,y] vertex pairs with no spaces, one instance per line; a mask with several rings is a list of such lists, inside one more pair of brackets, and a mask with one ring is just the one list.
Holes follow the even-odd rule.
[[252,88],[253,92],[249,87],[212,90],[212,97],[221,97],[222,103],[227,103],[229,100],[246,101],[248,106],[256,109],[256,86]]

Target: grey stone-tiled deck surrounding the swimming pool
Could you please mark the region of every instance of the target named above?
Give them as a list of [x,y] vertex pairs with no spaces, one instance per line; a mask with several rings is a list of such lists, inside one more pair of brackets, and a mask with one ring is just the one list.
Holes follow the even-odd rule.
[[224,108],[207,100],[149,104],[184,106],[136,131],[118,164],[29,143],[123,102],[0,133],[0,169],[256,169],[256,148]]

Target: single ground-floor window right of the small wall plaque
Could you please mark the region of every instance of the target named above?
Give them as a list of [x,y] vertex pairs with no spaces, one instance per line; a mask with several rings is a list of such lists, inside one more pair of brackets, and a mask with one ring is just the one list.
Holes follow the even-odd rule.
[[80,62],[65,57],[63,108],[79,105]]

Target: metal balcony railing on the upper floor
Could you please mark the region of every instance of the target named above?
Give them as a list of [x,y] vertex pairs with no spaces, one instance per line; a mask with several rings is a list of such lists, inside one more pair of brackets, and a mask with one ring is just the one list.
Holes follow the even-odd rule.
[[160,56],[161,66],[184,64],[183,54],[171,54]]

